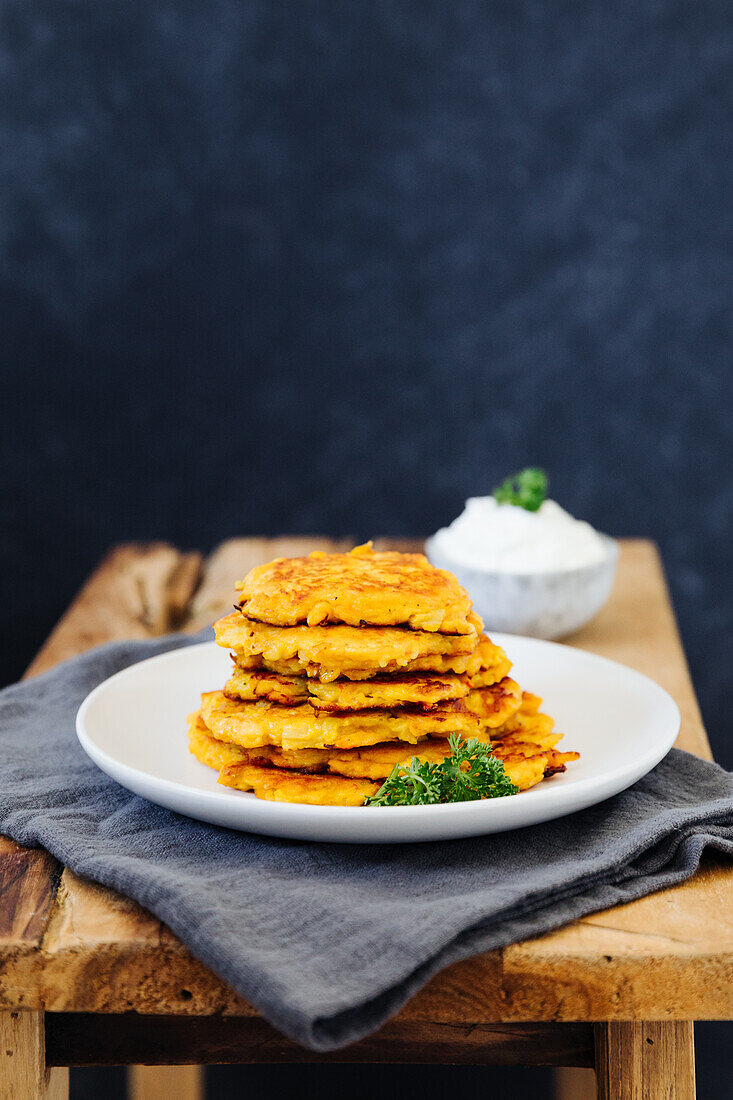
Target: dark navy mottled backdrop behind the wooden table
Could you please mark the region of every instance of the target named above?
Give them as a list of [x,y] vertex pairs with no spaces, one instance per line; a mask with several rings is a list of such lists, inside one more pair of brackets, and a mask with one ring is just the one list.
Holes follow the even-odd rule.
[[0,0],[3,681],[116,541],[538,463],[660,543],[732,767],[732,64],[724,0]]

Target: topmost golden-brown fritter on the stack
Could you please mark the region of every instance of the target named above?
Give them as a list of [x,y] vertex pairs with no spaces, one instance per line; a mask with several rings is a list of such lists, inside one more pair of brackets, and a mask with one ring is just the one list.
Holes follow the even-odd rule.
[[237,588],[248,618],[273,626],[344,623],[442,634],[474,630],[471,601],[452,573],[436,569],[422,553],[375,553],[371,543],[350,553],[276,558],[250,570]]

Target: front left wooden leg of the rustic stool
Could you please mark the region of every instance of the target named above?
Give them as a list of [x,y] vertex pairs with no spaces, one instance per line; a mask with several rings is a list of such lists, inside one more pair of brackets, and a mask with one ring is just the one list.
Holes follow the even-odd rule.
[[68,1100],[68,1069],[46,1069],[43,1012],[0,1012],[2,1100]]

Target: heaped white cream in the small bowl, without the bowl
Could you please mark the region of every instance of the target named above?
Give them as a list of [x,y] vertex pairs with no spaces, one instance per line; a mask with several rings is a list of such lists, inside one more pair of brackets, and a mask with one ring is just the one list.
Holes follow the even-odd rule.
[[496,573],[546,573],[603,561],[609,550],[590,524],[555,501],[537,512],[474,496],[461,515],[436,535],[436,544],[469,569]]

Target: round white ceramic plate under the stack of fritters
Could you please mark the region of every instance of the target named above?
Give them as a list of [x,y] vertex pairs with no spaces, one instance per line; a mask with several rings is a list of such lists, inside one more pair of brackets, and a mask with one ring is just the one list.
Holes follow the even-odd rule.
[[305,806],[264,802],[217,783],[188,752],[186,715],[199,694],[223,684],[229,654],[216,642],[133,664],[84,701],[79,740],[123,787],[178,813],[230,828],[302,840],[394,844],[447,840],[534,825],[594,805],[646,774],[670,749],[679,711],[646,676],[578,649],[492,635],[514,662],[512,675],[541,695],[565,733],[559,748],[580,760],[530,791],[441,806]]

